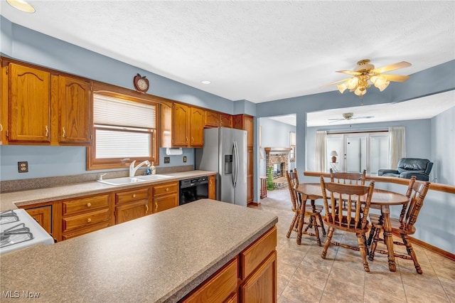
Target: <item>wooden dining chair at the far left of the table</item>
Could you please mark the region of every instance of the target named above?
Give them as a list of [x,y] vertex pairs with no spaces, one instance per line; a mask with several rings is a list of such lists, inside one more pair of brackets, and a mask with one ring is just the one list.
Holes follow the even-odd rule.
[[[310,205],[305,205],[305,211],[301,213],[301,198],[299,193],[297,193],[294,189],[295,186],[299,185],[299,175],[297,174],[297,170],[294,171],[286,171],[286,178],[289,188],[289,195],[291,196],[291,203],[292,203],[292,211],[294,211],[294,217],[292,218],[291,226],[289,226],[289,230],[287,232],[287,238],[291,236],[292,231],[299,232],[298,224],[299,224],[299,216],[302,220],[305,220],[305,217],[309,218],[309,222],[305,223],[306,227],[302,230],[302,233],[306,235],[312,235],[316,237],[316,241],[319,246],[321,246],[321,238],[319,238],[319,227],[321,227],[323,235],[326,235],[326,229],[323,225],[323,220],[321,216],[321,211],[323,209],[322,206],[316,205],[314,200],[311,200]],[[319,220],[319,223],[318,223]],[[309,228],[314,228],[314,233],[309,232]]]

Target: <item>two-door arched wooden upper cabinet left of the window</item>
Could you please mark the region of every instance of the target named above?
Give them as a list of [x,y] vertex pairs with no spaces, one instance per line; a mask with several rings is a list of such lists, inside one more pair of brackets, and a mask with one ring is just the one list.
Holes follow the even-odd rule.
[[2,59],[1,87],[2,144],[90,144],[90,81]]

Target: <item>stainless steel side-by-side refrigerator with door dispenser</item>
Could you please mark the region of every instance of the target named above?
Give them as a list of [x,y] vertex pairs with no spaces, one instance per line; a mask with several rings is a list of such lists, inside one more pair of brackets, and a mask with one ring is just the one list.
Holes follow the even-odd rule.
[[247,206],[247,132],[204,129],[204,147],[195,154],[196,169],[218,171],[216,199]]

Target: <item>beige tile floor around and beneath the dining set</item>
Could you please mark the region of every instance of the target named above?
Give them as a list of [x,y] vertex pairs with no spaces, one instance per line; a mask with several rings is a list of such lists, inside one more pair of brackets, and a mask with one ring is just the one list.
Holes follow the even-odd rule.
[[[400,258],[395,259],[397,271],[390,272],[387,255],[381,254],[369,261],[370,272],[364,272],[358,251],[331,245],[323,260],[316,238],[303,235],[301,245],[296,244],[295,232],[286,238],[294,216],[287,188],[268,191],[257,208],[278,216],[279,303],[455,302],[455,262],[446,257],[413,245],[422,275],[412,260]],[[349,233],[335,233],[333,239],[357,243]]]

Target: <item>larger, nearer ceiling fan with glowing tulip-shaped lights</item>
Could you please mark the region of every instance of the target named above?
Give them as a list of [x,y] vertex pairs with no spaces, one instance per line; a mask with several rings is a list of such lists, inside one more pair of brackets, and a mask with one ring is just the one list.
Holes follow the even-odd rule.
[[353,70],[337,70],[336,73],[343,73],[348,75],[353,75],[353,78],[348,78],[344,80],[339,80],[327,85],[323,85],[319,88],[326,87],[329,85],[336,85],[338,90],[343,93],[345,90],[354,92],[355,95],[363,97],[367,92],[367,88],[371,85],[375,85],[382,92],[389,85],[390,81],[395,82],[404,82],[410,78],[407,75],[387,75],[386,72],[392,70],[398,70],[400,68],[407,68],[411,66],[411,63],[402,61],[399,63],[394,63],[391,65],[383,66],[382,68],[375,68],[375,65],[370,63],[369,59],[364,59],[358,61],[357,65]]

